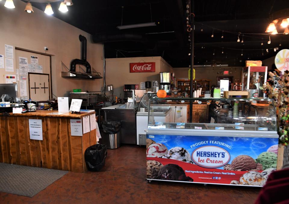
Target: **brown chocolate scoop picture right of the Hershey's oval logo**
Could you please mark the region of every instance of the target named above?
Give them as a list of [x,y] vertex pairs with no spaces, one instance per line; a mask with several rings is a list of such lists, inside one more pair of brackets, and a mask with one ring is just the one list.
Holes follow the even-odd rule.
[[263,170],[262,165],[255,162],[255,159],[248,155],[239,155],[233,159],[231,164],[224,166],[225,170],[230,171],[259,171]]

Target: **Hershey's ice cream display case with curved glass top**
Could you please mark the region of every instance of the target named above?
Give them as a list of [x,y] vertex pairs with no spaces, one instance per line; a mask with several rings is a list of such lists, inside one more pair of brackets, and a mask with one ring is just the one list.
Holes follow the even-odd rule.
[[185,98],[207,102],[205,123],[162,122],[152,104],[179,98],[150,99],[147,131],[147,180],[261,187],[276,170],[276,112],[269,98]]

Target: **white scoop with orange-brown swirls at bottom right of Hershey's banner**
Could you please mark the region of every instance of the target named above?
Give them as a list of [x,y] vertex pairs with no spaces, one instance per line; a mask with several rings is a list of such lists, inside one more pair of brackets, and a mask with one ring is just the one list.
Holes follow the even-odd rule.
[[266,183],[264,176],[255,171],[247,172],[240,178],[241,185],[263,186]]

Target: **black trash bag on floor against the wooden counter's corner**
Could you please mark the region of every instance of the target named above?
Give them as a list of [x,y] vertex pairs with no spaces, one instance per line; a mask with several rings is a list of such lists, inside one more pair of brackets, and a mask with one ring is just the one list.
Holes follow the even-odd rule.
[[89,170],[99,171],[105,164],[107,156],[106,145],[95,144],[85,150],[84,158]]

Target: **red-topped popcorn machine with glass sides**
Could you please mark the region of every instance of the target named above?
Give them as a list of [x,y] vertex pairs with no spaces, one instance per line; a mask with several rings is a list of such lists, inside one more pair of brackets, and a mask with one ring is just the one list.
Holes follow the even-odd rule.
[[252,92],[251,90],[256,90],[259,97],[265,97],[262,90],[263,84],[267,81],[267,69],[267,66],[244,67],[242,71],[242,91]]

